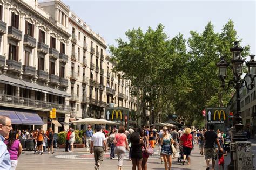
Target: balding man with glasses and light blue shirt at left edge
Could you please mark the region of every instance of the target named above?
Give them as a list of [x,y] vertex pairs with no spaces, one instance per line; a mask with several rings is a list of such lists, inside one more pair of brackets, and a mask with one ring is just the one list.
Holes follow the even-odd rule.
[[0,169],[11,169],[10,154],[4,143],[4,137],[8,136],[11,130],[11,119],[6,116],[0,116]]

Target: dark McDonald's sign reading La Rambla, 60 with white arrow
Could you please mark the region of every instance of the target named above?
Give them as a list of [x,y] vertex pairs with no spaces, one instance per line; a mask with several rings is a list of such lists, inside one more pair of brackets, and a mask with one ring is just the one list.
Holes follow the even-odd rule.
[[226,123],[226,107],[207,107],[207,123]]

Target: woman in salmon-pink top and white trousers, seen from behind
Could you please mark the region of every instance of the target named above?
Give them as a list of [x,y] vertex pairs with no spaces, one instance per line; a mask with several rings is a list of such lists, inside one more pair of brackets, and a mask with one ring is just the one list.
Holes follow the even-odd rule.
[[118,170],[122,169],[124,154],[125,151],[128,150],[128,141],[124,132],[124,126],[120,126],[118,129],[118,133],[116,134],[116,137],[114,137],[114,144],[116,145],[115,152],[118,156]]

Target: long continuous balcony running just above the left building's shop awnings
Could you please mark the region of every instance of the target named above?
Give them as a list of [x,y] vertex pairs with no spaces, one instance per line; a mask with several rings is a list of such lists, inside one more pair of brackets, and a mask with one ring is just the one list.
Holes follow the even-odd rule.
[[24,108],[24,109],[35,109],[42,111],[51,111],[52,108],[56,108],[58,112],[69,113],[70,106],[65,104],[57,104],[39,100],[33,100],[31,98],[18,97],[0,94],[0,103],[3,106]]

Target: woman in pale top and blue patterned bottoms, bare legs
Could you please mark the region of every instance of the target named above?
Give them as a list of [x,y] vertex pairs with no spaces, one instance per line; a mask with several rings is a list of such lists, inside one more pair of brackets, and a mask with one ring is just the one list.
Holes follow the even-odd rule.
[[160,139],[161,155],[164,158],[165,170],[170,170],[172,166],[172,150],[170,144],[174,144],[171,134],[168,133],[168,128],[163,127],[163,137]]

